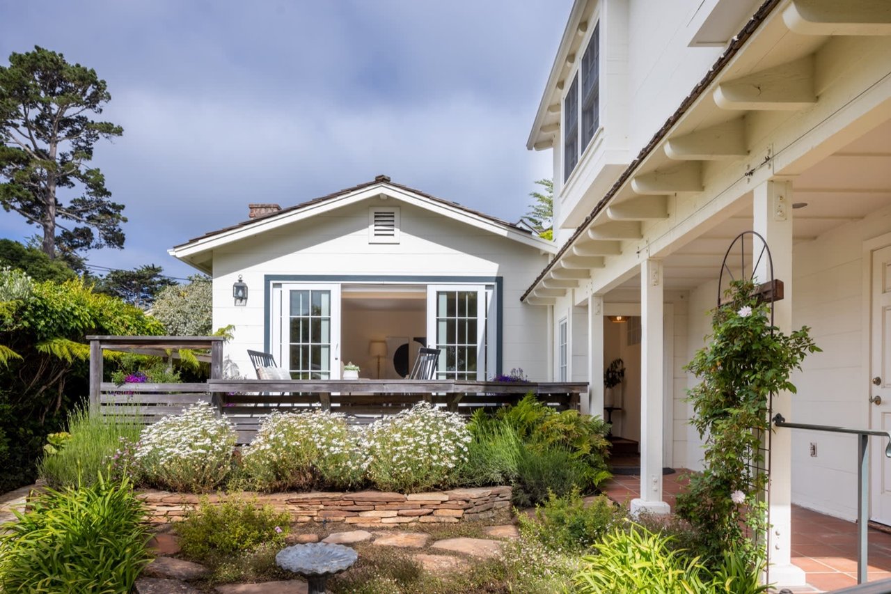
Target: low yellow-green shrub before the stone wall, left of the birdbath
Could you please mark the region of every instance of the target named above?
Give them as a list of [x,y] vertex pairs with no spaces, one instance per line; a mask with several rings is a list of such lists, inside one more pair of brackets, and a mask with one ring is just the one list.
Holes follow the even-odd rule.
[[260,545],[281,549],[289,524],[287,512],[275,512],[271,506],[259,507],[256,499],[234,496],[212,504],[202,498],[199,506],[176,524],[176,532],[186,556],[222,562]]

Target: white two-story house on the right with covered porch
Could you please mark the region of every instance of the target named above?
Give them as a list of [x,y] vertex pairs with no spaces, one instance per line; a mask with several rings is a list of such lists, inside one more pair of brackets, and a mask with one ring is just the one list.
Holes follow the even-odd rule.
[[[732,273],[780,280],[776,326],[823,350],[773,413],[891,428],[891,3],[577,0],[528,148],[552,151],[558,252],[521,300],[548,311],[553,379],[589,381],[584,408],[639,444],[635,510],[667,511],[664,466],[701,467],[683,365],[745,231],[772,262],[750,236]],[[870,519],[891,524],[884,445]],[[789,504],[856,517],[854,438],[781,428],[770,466],[770,579],[794,585]]]

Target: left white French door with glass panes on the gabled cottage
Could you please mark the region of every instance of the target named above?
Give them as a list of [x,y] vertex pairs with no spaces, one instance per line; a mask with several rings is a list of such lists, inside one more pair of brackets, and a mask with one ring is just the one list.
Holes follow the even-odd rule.
[[340,286],[273,287],[271,350],[294,379],[340,379]]

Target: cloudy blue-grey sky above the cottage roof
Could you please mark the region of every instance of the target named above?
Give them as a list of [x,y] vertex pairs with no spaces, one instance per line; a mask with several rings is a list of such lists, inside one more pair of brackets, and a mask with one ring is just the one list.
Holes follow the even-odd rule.
[[[571,0],[0,0],[0,63],[34,45],[108,82],[102,169],[129,222],[91,264],[167,250],[386,174],[504,219],[550,152],[526,139]],[[0,211],[0,236],[37,227]]]

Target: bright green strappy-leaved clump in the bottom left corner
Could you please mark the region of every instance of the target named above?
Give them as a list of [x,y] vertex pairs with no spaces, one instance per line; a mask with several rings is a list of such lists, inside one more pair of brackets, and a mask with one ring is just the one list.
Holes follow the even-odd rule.
[[150,560],[143,515],[127,481],[45,492],[0,529],[0,590],[130,591]]

